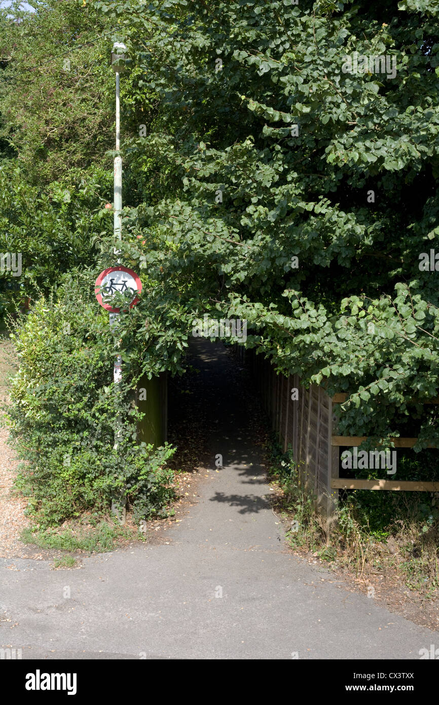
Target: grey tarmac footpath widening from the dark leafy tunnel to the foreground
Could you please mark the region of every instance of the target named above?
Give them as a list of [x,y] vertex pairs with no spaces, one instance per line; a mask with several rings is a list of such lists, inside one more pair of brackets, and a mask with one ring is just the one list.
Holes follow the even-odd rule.
[[0,620],[0,644],[49,659],[419,658],[438,632],[285,549],[242,420],[242,382],[221,346],[198,347],[212,476],[199,480],[199,502],[168,529],[168,545],[99,554],[80,570],[1,559],[0,617],[6,610],[11,622]]

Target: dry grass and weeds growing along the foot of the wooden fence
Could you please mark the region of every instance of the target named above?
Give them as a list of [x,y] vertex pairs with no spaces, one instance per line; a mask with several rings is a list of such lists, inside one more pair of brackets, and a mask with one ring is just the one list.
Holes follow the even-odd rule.
[[274,439],[266,450],[271,482],[280,489],[277,509],[290,524],[286,530],[290,546],[335,561],[357,577],[395,568],[407,587],[426,597],[437,595],[436,494],[412,493],[408,499],[402,493],[352,491],[342,495],[335,516],[328,520],[302,482],[302,468],[292,460],[291,450],[283,453]]

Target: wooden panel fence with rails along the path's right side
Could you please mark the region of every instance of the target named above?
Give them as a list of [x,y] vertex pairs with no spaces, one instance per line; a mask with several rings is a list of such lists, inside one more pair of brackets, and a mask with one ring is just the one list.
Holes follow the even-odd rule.
[[[439,482],[412,482],[389,479],[365,480],[340,477],[340,447],[359,446],[364,437],[338,436],[335,405],[345,394],[330,398],[317,385],[308,389],[297,374],[276,374],[271,362],[256,350],[236,345],[238,359],[252,375],[264,409],[278,434],[284,452],[292,448],[299,482],[316,497],[327,516],[332,515],[339,489],[439,491]],[[297,393],[296,393],[297,391]],[[423,403],[439,403],[439,398]],[[416,438],[392,439],[395,448],[413,448]]]

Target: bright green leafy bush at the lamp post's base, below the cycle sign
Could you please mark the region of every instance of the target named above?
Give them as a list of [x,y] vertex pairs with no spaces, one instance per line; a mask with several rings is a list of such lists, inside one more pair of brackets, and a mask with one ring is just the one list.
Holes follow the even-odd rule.
[[[108,314],[89,283],[96,274],[66,276],[56,295],[42,296],[13,333],[20,367],[13,379],[11,436],[21,465],[17,486],[30,496],[41,525],[82,511],[106,510],[126,494],[135,519],[163,515],[173,497],[167,444],[136,443],[136,380],[116,387]],[[116,419],[121,419],[113,447]]]

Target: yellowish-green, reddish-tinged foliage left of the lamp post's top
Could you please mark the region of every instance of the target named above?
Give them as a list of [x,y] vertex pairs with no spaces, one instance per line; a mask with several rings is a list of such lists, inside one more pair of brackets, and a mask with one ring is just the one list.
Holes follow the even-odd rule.
[[[42,185],[84,173],[113,144],[111,26],[87,3],[13,0],[0,10],[0,140]],[[111,46],[111,44],[110,44]],[[7,49],[6,49],[7,47]]]

